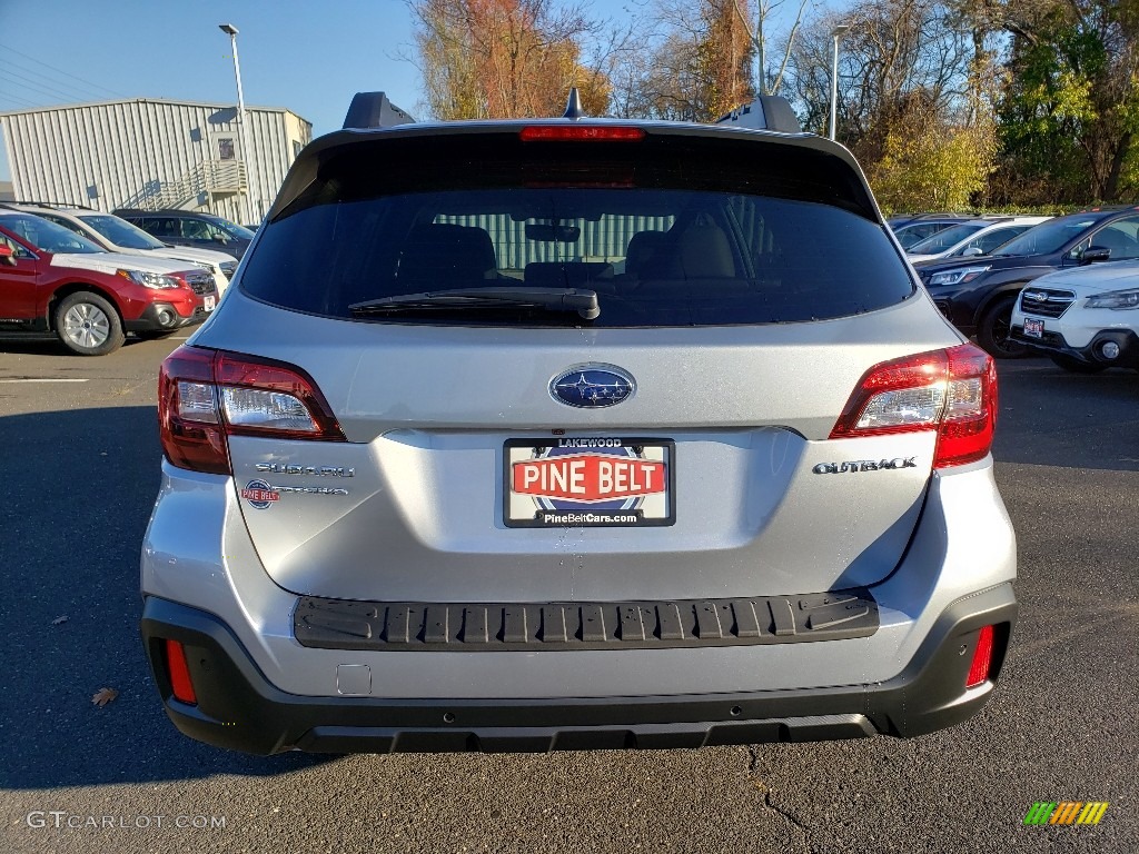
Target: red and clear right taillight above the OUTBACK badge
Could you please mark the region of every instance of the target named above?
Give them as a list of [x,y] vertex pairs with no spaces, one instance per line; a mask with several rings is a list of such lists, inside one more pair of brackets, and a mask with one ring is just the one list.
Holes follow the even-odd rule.
[[830,438],[936,430],[934,468],[984,459],[997,426],[997,368],[973,344],[876,364]]

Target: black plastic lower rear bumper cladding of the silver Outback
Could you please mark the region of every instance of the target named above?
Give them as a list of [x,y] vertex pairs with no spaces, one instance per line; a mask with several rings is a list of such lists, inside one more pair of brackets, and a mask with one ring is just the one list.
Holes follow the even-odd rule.
[[[960,723],[975,715],[993,690],[1016,609],[1008,583],[958,599],[942,611],[899,675],[886,682],[600,698],[388,699],[375,696],[379,685],[371,687],[370,697],[298,696],[272,685],[230,627],[211,614],[148,597],[141,632],[155,684],[174,725],[219,747],[255,754],[292,748],[317,753],[678,748],[874,734],[910,738]],[[997,627],[990,679],[966,689],[977,633],[985,625]],[[186,646],[197,705],[173,698],[165,639]]]

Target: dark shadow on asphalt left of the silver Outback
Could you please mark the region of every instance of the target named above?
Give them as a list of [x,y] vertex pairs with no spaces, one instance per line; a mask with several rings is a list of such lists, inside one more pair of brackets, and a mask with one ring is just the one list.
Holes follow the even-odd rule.
[[[333,758],[219,750],[166,720],[138,631],[139,549],[162,453],[154,408],[0,418],[0,786],[272,775]],[[118,693],[99,707],[103,688]]]

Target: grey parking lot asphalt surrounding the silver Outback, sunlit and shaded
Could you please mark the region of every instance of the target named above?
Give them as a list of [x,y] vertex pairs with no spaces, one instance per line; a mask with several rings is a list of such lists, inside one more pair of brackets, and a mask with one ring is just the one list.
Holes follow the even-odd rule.
[[[0,852],[1139,851],[1139,375],[1000,364],[1021,617],[993,699],[961,726],[259,758],[180,736],[138,640],[156,373],[177,344],[79,359],[0,339]],[[101,688],[118,695],[100,708]],[[1040,800],[1109,807],[1095,827],[1024,826]]]

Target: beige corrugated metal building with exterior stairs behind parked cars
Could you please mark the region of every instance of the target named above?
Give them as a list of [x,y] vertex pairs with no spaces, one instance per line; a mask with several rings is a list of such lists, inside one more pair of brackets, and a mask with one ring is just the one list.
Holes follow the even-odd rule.
[[288,109],[245,114],[249,153],[241,150],[237,107],[224,104],[42,107],[0,113],[0,130],[17,199],[101,211],[178,207],[255,223],[312,139],[312,124]]

